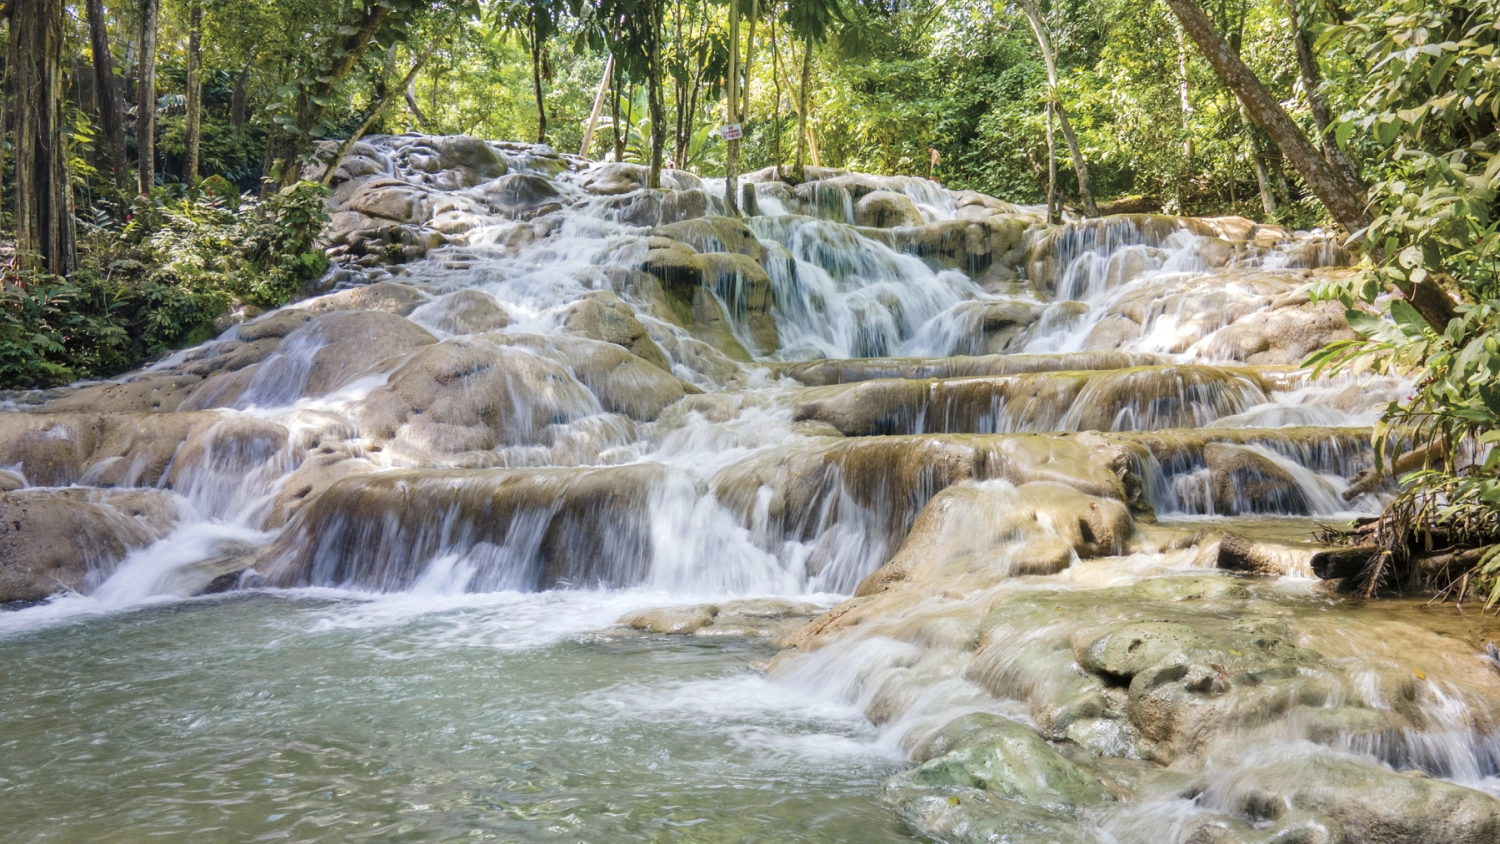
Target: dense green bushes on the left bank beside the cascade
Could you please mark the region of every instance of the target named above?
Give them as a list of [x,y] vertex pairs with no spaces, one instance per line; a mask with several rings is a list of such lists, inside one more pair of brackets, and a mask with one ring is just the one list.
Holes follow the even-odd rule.
[[70,277],[0,285],[0,385],[110,375],[212,337],[236,301],[285,304],[327,268],[324,196],[304,181],[255,202],[212,177],[136,198],[124,226],[100,213]]

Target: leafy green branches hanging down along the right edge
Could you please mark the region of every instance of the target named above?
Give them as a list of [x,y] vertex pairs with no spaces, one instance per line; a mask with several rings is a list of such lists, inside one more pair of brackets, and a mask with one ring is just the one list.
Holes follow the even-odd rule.
[[[1497,19],[1496,0],[1392,0],[1322,39],[1365,67],[1366,93],[1335,136],[1372,150],[1378,178],[1370,193],[1377,214],[1359,232],[1372,259],[1348,282],[1318,291],[1344,301],[1360,337],[1310,363],[1336,369],[1368,360],[1416,378],[1377,432],[1382,457],[1422,450],[1428,465],[1402,478],[1388,513],[1401,525],[1383,535],[1396,558],[1436,532],[1461,534],[1462,543],[1500,540]],[[1430,325],[1407,300],[1424,286],[1458,298],[1446,325]],[[1497,573],[1490,556],[1464,588],[1494,603]]]

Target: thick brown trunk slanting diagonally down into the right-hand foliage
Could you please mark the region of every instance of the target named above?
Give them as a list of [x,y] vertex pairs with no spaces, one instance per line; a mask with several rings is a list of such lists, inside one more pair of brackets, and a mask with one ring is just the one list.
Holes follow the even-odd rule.
[[1352,190],[1340,178],[1323,154],[1292,121],[1276,97],[1260,82],[1254,70],[1234,55],[1234,51],[1214,28],[1214,22],[1203,10],[1192,0],[1167,0],[1167,6],[1182,21],[1182,28],[1197,42],[1198,49],[1203,51],[1204,58],[1214,66],[1224,85],[1234,91],[1251,120],[1270,135],[1282,157],[1292,162],[1312,193],[1334,214],[1334,219],[1350,231],[1365,228],[1370,217],[1365,213],[1362,192]]

